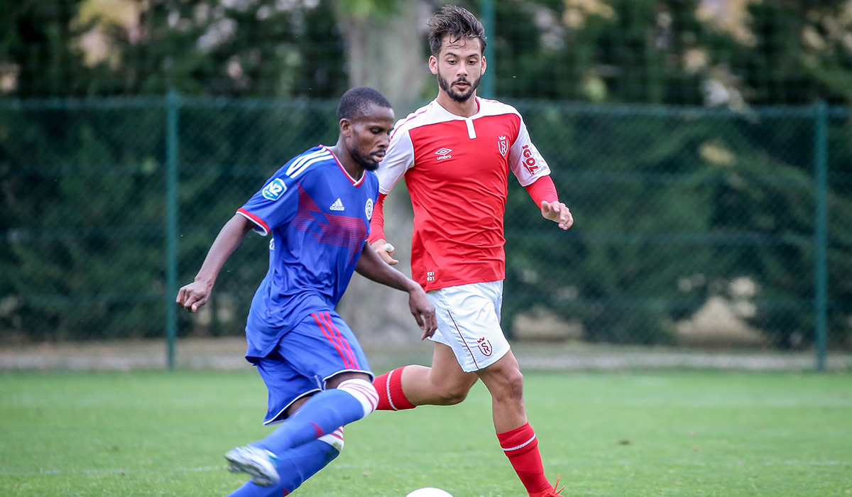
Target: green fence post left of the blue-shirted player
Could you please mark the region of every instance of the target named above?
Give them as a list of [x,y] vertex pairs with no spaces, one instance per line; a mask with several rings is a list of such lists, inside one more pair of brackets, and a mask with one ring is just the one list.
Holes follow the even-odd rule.
[[165,341],[166,366],[175,369],[177,337],[177,161],[178,111],[181,97],[175,90],[165,96]]

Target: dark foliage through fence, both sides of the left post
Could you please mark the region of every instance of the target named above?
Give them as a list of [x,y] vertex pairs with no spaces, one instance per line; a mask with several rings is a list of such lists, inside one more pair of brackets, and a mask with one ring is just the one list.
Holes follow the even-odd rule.
[[[173,298],[164,294],[165,109],[164,100],[137,103],[0,113],[0,136],[16,137],[0,139],[7,339],[162,336]],[[337,139],[332,104],[211,103],[187,101],[179,114],[182,282],[274,170]],[[245,316],[267,267],[266,240],[250,236],[245,245],[211,303],[232,316],[229,333],[241,329],[233,319]],[[217,316],[210,332],[222,332]]]

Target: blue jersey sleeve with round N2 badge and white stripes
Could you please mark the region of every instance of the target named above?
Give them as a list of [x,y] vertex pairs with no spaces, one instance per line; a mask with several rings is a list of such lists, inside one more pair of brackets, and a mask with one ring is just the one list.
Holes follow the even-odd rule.
[[268,179],[238,211],[254,222],[255,231],[267,235],[273,228],[291,222],[299,208],[299,182],[285,174],[286,166]]

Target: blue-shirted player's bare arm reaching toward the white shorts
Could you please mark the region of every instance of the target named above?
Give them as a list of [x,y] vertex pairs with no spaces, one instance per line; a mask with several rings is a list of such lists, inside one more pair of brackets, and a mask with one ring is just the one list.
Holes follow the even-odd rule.
[[437,321],[435,321],[435,306],[429,302],[426,292],[423,292],[423,287],[417,281],[408,278],[385,263],[371,248],[368,241],[364,242],[355,271],[368,280],[408,292],[408,309],[412,311],[417,326],[423,330],[421,339],[429,338],[435,334],[435,330],[438,328]]

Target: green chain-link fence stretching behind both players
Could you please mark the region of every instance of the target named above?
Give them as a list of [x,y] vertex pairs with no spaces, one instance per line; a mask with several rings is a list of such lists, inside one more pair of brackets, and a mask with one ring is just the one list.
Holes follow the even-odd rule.
[[[510,182],[509,332],[549,315],[588,342],[684,344],[704,316],[818,365],[852,346],[852,110],[515,104],[576,223]],[[0,341],[241,334],[265,240],[234,253],[206,317],[176,312],[176,286],[274,170],[336,140],[334,110],[0,103]]]

